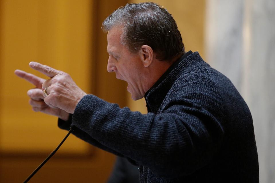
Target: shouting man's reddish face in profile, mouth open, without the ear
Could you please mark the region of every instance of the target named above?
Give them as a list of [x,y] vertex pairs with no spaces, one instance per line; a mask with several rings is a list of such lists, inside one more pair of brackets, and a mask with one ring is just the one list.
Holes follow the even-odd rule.
[[107,34],[107,52],[109,53],[107,70],[115,72],[116,78],[128,83],[127,91],[133,100],[144,97],[144,83],[142,83],[142,69],[144,66],[138,53],[130,53],[120,42],[122,29],[120,26],[111,28]]

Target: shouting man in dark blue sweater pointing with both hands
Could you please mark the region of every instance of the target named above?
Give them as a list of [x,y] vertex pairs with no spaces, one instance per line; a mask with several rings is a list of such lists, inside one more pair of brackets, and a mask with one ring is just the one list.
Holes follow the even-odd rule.
[[103,30],[107,70],[128,83],[133,100],[145,97],[148,114],[87,95],[68,74],[31,62],[51,78],[15,71],[38,87],[28,91],[35,111],[58,116],[60,128],[71,126],[79,138],[138,164],[140,182],[259,182],[247,105],[199,53],[184,51],[166,9],[127,4]]

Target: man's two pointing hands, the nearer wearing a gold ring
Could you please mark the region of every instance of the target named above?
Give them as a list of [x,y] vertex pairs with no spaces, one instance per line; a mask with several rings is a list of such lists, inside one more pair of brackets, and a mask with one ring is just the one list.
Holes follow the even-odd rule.
[[[17,76],[36,86],[27,92],[32,109],[36,112],[58,116],[62,120],[68,120],[69,114],[74,113],[76,105],[86,93],[76,85],[70,75],[63,71],[37,62],[30,62],[29,65],[50,77],[46,80],[25,71],[15,70]],[[43,92],[45,88],[47,88],[47,96]]]

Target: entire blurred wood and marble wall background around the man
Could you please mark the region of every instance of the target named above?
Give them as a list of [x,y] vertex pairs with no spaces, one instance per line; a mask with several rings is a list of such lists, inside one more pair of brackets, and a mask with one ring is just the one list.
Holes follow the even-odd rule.
[[[107,72],[102,21],[126,3],[0,0],[0,182],[23,182],[66,135],[57,118],[33,112],[34,86],[14,75],[38,61],[69,73],[85,92],[146,114],[126,83]],[[275,182],[275,1],[157,0],[172,14],[186,51],[199,51],[241,93],[254,119],[260,182]],[[47,79],[46,77],[44,77]],[[232,106],[233,107],[233,106]],[[115,156],[73,135],[30,182],[105,182]]]

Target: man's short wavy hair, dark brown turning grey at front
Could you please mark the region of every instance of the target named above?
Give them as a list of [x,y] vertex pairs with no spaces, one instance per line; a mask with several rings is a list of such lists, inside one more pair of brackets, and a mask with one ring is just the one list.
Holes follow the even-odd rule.
[[170,60],[185,52],[176,21],[156,3],[119,7],[103,21],[102,29],[109,31],[115,26],[123,27],[120,42],[132,53],[142,45],[150,46],[159,60]]

